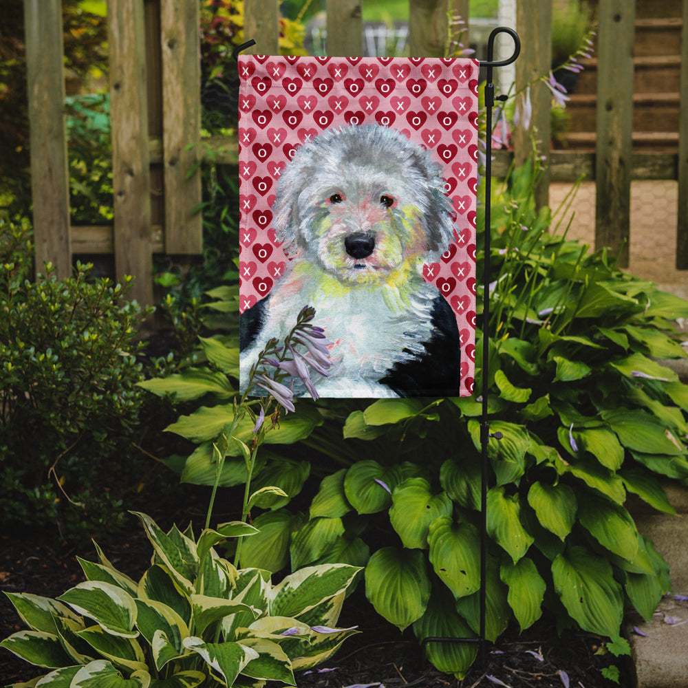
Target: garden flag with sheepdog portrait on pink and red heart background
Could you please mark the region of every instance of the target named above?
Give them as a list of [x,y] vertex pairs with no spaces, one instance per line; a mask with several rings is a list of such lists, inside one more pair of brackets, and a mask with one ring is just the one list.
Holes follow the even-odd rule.
[[243,387],[310,305],[320,396],[472,394],[477,61],[241,55],[239,76]]

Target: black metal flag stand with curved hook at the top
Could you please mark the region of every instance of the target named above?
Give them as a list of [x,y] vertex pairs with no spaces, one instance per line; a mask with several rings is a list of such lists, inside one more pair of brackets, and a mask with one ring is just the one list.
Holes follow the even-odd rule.
[[[514,52],[506,60],[493,60],[495,39],[498,34],[509,34],[514,41]],[[502,439],[502,433],[490,433],[490,423],[487,419],[488,405],[488,365],[489,347],[488,328],[490,323],[490,202],[492,196],[492,109],[495,100],[506,100],[508,96],[501,95],[495,97],[495,85],[493,83],[493,68],[506,67],[516,61],[521,52],[521,40],[518,34],[511,28],[499,26],[490,34],[487,41],[487,60],[481,61],[480,66],[486,67],[485,84],[485,109],[486,109],[486,142],[485,142],[485,270],[483,276],[483,310],[482,310],[482,418],[480,421],[480,444],[482,447],[482,476],[480,480],[480,632],[477,638],[450,638],[450,637],[428,637],[424,638],[421,645],[426,649],[427,643],[479,643],[480,645],[480,664],[486,666],[485,657],[485,616],[486,616],[486,582],[487,582],[487,475],[488,458],[487,446],[490,438],[495,440]]]

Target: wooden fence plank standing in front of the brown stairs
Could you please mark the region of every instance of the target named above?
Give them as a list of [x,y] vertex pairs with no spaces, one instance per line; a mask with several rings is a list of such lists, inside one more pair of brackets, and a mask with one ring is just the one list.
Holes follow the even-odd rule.
[[628,266],[630,252],[635,2],[600,0],[595,247]]

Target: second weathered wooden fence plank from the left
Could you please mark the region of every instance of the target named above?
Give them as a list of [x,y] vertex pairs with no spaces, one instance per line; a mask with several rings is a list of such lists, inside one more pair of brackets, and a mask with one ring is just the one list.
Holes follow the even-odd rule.
[[133,275],[132,297],[153,303],[151,177],[144,16],[141,0],[107,7],[112,121],[112,183],[116,277]]

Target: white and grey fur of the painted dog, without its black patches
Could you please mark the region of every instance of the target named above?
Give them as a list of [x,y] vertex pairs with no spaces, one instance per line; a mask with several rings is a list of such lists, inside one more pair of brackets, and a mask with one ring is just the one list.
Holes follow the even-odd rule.
[[[242,389],[268,340],[281,341],[308,304],[334,342],[330,376],[312,374],[319,394],[398,396],[378,380],[422,354],[432,336],[438,290],[424,281],[422,264],[437,260],[453,236],[443,186],[429,153],[387,127],[328,129],[297,150],[273,206],[291,260],[261,332],[241,353]],[[352,236],[372,237],[371,255],[347,254]]]

